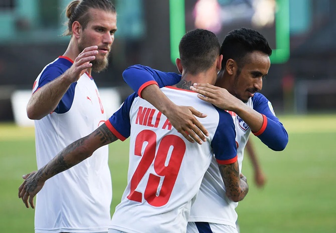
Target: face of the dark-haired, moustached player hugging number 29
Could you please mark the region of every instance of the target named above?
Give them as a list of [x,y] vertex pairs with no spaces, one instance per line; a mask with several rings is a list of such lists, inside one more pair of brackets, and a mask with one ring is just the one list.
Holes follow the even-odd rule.
[[245,103],[255,92],[262,89],[262,79],[271,66],[269,57],[260,51],[254,51],[247,56],[245,65],[240,68],[241,72],[234,80],[235,96]]

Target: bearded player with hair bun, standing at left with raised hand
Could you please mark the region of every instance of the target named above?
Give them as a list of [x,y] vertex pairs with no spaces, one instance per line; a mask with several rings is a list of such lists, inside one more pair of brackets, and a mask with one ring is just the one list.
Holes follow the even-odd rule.
[[[91,72],[108,65],[117,30],[115,8],[108,0],[73,1],[66,16],[69,46],[42,70],[27,107],[35,120],[39,169],[106,120]],[[112,198],[108,147],[94,155],[46,183],[36,200],[36,233],[107,232]]]

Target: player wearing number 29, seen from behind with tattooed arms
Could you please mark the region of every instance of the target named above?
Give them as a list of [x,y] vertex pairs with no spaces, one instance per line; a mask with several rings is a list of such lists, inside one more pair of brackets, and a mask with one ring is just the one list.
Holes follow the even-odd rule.
[[173,102],[209,113],[201,120],[209,131],[206,142],[190,143],[163,114],[134,93],[102,126],[30,175],[19,188],[23,201],[28,205],[29,198],[32,205],[47,179],[90,157],[97,148],[128,136],[128,184],[112,217],[110,233],[186,232],[192,200],[214,153],[227,195],[234,201],[244,198],[248,185],[239,173],[231,115],[190,91],[194,82],[216,82],[222,61],[219,49],[215,34],[200,29],[187,33],[179,46],[181,59],[177,59],[181,82],[162,88]]

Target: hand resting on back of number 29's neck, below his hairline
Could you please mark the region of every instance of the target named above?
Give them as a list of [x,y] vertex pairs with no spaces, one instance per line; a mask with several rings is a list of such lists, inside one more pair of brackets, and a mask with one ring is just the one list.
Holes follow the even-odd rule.
[[243,103],[235,96],[231,95],[226,89],[210,84],[194,83],[194,86],[191,86],[190,89],[199,93],[200,95],[197,97],[201,100],[209,102],[224,110],[235,112],[237,105]]

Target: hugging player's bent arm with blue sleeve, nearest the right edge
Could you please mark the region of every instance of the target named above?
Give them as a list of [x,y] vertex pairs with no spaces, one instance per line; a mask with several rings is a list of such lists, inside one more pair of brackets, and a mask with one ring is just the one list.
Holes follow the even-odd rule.
[[253,108],[250,108],[224,88],[210,84],[197,84],[192,90],[200,94],[198,95],[200,99],[221,109],[235,112],[251,128],[252,133],[270,149],[280,151],[286,147],[288,134],[270,110],[270,102],[262,94],[254,94]]

